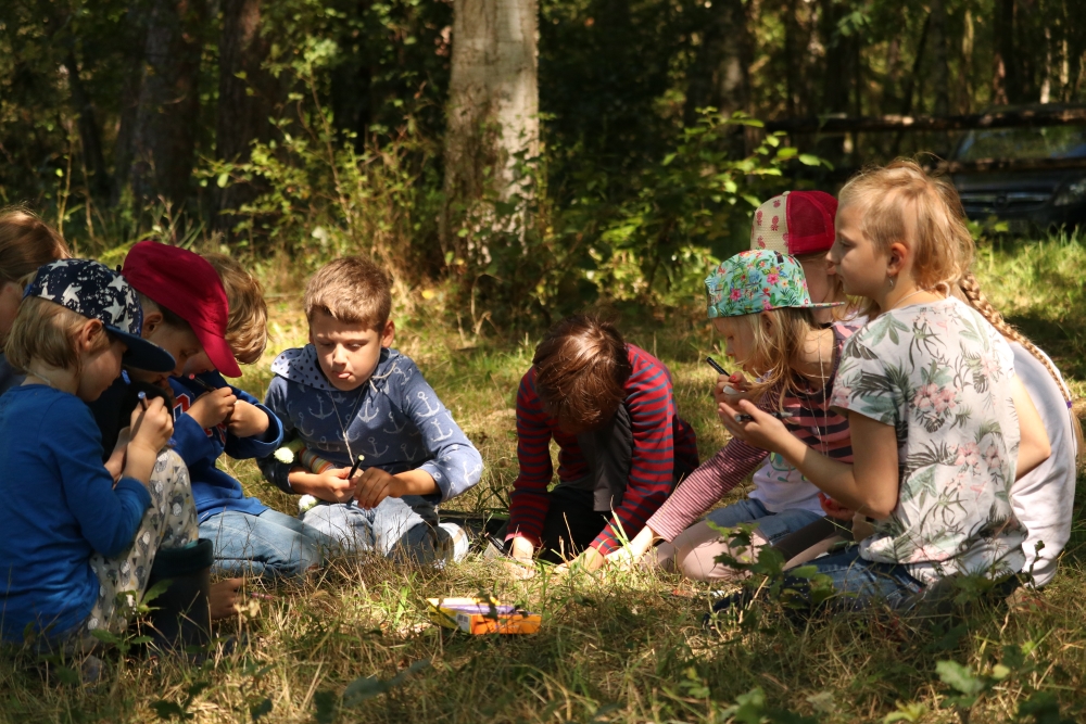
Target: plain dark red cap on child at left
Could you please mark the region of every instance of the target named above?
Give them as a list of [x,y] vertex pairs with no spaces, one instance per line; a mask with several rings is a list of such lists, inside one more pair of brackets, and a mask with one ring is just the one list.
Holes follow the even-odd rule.
[[205,258],[180,246],[141,241],[128,252],[121,275],[137,292],[189,322],[219,372],[241,377],[226,343],[226,291]]

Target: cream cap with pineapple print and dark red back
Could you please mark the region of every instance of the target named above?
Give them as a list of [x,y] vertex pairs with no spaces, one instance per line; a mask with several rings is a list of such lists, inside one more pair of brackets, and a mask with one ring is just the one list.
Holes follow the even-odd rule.
[[754,213],[750,249],[815,254],[833,246],[837,200],[824,191],[785,191]]

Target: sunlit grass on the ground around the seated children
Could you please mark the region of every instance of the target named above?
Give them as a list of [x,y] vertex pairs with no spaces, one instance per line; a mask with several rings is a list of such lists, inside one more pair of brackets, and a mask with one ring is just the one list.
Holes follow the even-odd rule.
[[[1078,394],[1086,393],[1076,272],[1084,261],[1086,245],[1063,239],[984,249],[977,265],[992,300],[1052,354]],[[272,295],[274,350],[242,384],[254,393],[267,384],[273,354],[304,341],[299,296]],[[465,340],[409,313],[397,320],[397,346],[487,462],[479,486],[452,507],[501,508],[517,473],[514,396],[534,340]],[[712,348],[699,310],[669,312],[664,321],[619,313],[630,341],[670,366],[703,458],[712,454],[725,437],[709,404],[712,373],[698,361]],[[224,465],[251,494],[292,509],[251,462]],[[159,710],[169,714],[163,702],[195,722],[997,722],[1013,721],[1024,702],[1041,708],[1038,722],[1058,721],[1044,717],[1053,706],[1078,721],[1086,716],[1084,543],[1076,522],[1056,581],[1012,610],[978,607],[952,620],[838,615],[805,627],[766,610],[717,631],[702,625],[708,587],[677,577],[514,581],[484,560],[445,571],[338,561],[304,584],[270,590],[272,601],[250,599],[220,627],[243,634],[242,645],[202,665],[114,653],[103,681],[83,687],[59,683],[55,671],[43,676],[29,655],[4,657],[0,722],[146,722]],[[541,612],[542,631],[488,638],[426,625],[425,598],[477,592]],[[429,665],[391,687],[376,683],[420,661]],[[939,664],[940,676],[939,661],[964,669]]]

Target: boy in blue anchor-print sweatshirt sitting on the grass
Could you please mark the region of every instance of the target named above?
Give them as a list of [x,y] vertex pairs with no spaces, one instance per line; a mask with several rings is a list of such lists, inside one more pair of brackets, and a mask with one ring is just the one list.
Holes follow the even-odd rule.
[[345,550],[447,559],[463,534],[439,526],[434,505],[478,483],[482,457],[415,363],[391,348],[388,275],[361,257],[337,259],[310,280],[304,305],[310,344],[272,364],[265,405],[305,454],[262,458],[261,470],[317,498],[302,521]]

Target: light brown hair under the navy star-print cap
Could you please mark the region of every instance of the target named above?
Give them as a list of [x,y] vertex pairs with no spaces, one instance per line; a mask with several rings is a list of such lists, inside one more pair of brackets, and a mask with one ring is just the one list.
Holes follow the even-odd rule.
[[[40,296],[28,296],[18,305],[15,321],[8,333],[4,355],[16,370],[26,371],[31,359],[50,367],[79,370],[79,354],[75,335],[87,323],[87,317]],[[104,328],[94,340],[91,352],[110,346]]]

